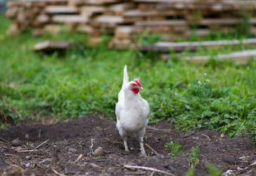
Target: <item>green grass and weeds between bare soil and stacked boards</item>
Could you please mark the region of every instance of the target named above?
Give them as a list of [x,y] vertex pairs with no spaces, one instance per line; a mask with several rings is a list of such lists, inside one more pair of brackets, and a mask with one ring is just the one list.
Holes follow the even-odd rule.
[[[167,119],[177,130],[207,126],[230,136],[248,129],[255,138],[251,129],[255,123],[249,116],[256,107],[255,58],[248,65],[218,60],[197,65],[179,57],[162,62],[157,54],[137,50],[111,50],[103,44],[90,48],[82,33],[6,36],[10,22],[3,15],[0,21],[0,109],[15,120],[64,120],[102,113],[115,119],[126,64],[130,80],[141,76],[140,93],[151,107],[149,123]],[[46,39],[68,40],[75,47],[51,54],[32,50]],[[181,56],[214,56],[242,48],[200,49]]]

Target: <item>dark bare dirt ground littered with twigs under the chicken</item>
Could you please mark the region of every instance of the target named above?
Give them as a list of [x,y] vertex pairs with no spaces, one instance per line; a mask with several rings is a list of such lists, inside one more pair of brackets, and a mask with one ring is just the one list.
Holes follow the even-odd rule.
[[[210,174],[205,163],[214,164],[222,172],[232,170],[232,175],[256,175],[256,146],[246,136],[221,137],[220,131],[207,129],[179,134],[163,130],[169,128],[167,121],[154,128],[157,130],[147,128],[144,137],[148,154],[145,157],[140,155],[134,136],[128,138],[130,151],[126,152],[115,121],[102,117],[86,116],[51,124],[19,122],[18,126],[0,130],[0,174],[185,175],[190,168],[188,154],[198,146],[201,158],[195,175]],[[171,141],[178,141],[183,151],[173,159],[168,155],[171,149],[165,147]],[[98,147],[104,149],[104,154],[95,157],[92,151]],[[141,168],[131,169],[129,165]]]

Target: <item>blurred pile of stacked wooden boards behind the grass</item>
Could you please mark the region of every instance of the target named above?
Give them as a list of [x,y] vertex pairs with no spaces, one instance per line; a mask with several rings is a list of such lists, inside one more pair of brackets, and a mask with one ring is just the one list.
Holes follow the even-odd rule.
[[245,13],[256,35],[256,0],[12,0],[7,8],[9,35],[75,30],[88,33],[89,43],[97,45],[107,33],[109,46],[117,48],[136,42],[145,31],[164,41],[193,34],[203,38],[215,29],[230,32]]

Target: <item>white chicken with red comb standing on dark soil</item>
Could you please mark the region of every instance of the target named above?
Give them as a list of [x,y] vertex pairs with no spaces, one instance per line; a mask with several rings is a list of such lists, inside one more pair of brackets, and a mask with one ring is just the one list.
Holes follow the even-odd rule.
[[143,137],[148,124],[149,104],[142,99],[139,89],[143,90],[140,84],[141,77],[129,82],[127,65],[124,67],[124,81],[122,89],[118,94],[118,103],[115,106],[117,115],[117,128],[124,140],[125,151],[128,150],[127,137],[135,134],[141,147],[141,153],[145,155]]

